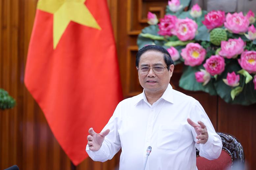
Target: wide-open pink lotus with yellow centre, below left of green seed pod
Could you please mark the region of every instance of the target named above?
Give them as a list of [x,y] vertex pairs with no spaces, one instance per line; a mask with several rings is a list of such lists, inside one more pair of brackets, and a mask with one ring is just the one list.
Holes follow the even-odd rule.
[[184,64],[192,67],[202,64],[206,55],[206,50],[198,43],[188,43],[181,51]]

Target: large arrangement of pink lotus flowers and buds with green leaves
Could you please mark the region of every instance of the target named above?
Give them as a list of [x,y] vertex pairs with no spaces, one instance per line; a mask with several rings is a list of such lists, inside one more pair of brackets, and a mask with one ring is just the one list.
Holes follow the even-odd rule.
[[148,12],[139,49],[160,45],[174,64],[184,63],[179,86],[218,95],[231,104],[256,103],[256,23],[254,13],[204,11],[190,0],[170,0],[164,18]]

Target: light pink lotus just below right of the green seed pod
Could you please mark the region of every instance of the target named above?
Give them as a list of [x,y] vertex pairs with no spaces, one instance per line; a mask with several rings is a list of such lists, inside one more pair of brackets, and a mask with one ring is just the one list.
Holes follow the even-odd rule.
[[245,43],[239,37],[238,39],[229,39],[228,41],[221,41],[221,50],[219,55],[226,58],[236,58],[238,54],[243,52]]

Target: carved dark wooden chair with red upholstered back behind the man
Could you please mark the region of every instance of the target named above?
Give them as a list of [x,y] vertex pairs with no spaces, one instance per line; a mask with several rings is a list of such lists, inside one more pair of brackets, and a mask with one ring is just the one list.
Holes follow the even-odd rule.
[[233,163],[244,165],[244,153],[241,143],[232,135],[217,132],[222,140],[222,151],[218,159],[208,160],[199,156],[196,150],[196,166],[198,170],[226,170]]

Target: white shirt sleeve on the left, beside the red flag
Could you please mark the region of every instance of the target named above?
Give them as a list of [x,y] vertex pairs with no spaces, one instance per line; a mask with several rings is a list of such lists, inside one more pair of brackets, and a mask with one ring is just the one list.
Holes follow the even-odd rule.
[[113,116],[109,119],[106,126],[102,129],[101,132],[106,129],[110,129],[109,134],[104,138],[103,143],[98,151],[94,152],[89,149],[87,144],[86,152],[89,157],[94,161],[105,162],[106,160],[112,159],[114,155],[120,150],[121,142],[118,133],[118,115],[120,114],[120,104],[116,107],[116,110]]

